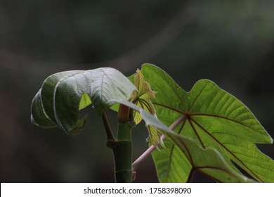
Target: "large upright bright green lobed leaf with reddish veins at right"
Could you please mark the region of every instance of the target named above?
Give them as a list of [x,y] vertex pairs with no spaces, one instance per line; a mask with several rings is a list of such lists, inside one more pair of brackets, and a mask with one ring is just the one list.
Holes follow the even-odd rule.
[[[255,145],[271,144],[273,139],[241,101],[209,80],[198,81],[191,91],[186,92],[155,65],[145,64],[141,72],[157,91],[152,103],[159,120],[171,125],[178,117],[186,115],[188,118],[174,132],[188,136],[203,148],[214,147],[233,170],[237,169],[230,160],[257,181],[274,182],[273,160]],[[175,137],[173,141],[180,140]],[[190,172],[186,162],[190,156],[204,162],[194,152],[183,154],[174,142],[165,142],[165,145],[166,149],[152,154],[160,182],[185,182]],[[196,170],[200,169],[196,166]],[[209,168],[205,173],[217,175]]]

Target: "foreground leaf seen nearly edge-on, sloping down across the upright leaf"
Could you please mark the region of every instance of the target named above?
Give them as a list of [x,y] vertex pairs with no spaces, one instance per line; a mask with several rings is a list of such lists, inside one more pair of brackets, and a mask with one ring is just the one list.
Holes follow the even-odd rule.
[[[186,182],[188,173],[191,169],[199,170],[216,179],[218,182],[253,182],[252,179],[248,179],[237,172],[237,170],[233,170],[215,148],[209,147],[204,149],[188,136],[176,134],[160,122],[157,117],[129,101],[114,100],[112,103],[122,103],[123,105],[138,111],[143,117],[143,120],[145,120],[145,125],[147,127],[156,127],[157,129],[160,129],[169,138],[169,141],[176,144],[177,149],[173,149],[176,153],[174,152],[167,155],[164,151],[168,151],[169,148],[158,151],[158,153],[164,155],[171,161],[167,164],[163,160],[157,160],[157,163],[164,165],[164,168],[168,168],[171,171],[168,177],[165,176],[165,174],[162,174],[162,176],[167,177],[167,179],[163,180],[163,177],[159,177],[159,180],[162,182]],[[178,155],[180,155],[181,158],[175,158]]]

